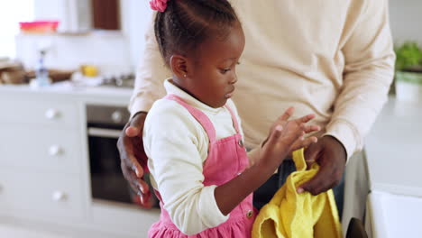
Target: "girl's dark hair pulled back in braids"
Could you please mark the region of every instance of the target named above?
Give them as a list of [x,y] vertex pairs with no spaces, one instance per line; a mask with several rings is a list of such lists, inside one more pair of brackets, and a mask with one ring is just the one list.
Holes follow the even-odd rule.
[[166,65],[172,54],[188,55],[208,37],[224,37],[238,23],[226,0],[170,0],[155,17],[154,31]]

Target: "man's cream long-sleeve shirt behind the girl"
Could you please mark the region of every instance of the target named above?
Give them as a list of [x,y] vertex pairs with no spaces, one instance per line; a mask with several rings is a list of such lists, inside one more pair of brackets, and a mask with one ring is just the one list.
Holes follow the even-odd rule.
[[[234,103],[245,144],[256,147],[290,105],[295,116],[343,143],[348,157],[362,149],[387,100],[394,52],[388,0],[232,0],[246,37]],[[170,77],[153,34],[137,72],[129,108],[149,111]]]

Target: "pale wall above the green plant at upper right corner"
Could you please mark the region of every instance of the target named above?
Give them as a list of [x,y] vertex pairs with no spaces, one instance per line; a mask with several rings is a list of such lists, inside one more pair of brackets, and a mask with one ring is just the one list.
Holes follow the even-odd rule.
[[422,0],[390,0],[390,25],[395,43],[422,45]]

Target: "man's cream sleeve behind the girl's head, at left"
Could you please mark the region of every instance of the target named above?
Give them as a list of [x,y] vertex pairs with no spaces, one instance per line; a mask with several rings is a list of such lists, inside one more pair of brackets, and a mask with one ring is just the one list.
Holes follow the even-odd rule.
[[151,14],[151,21],[145,33],[145,48],[139,67],[136,69],[136,78],[133,95],[129,102],[131,115],[137,112],[148,112],[151,105],[162,96],[165,96],[164,79],[170,78],[170,69],[165,66],[154,34],[155,13]]

